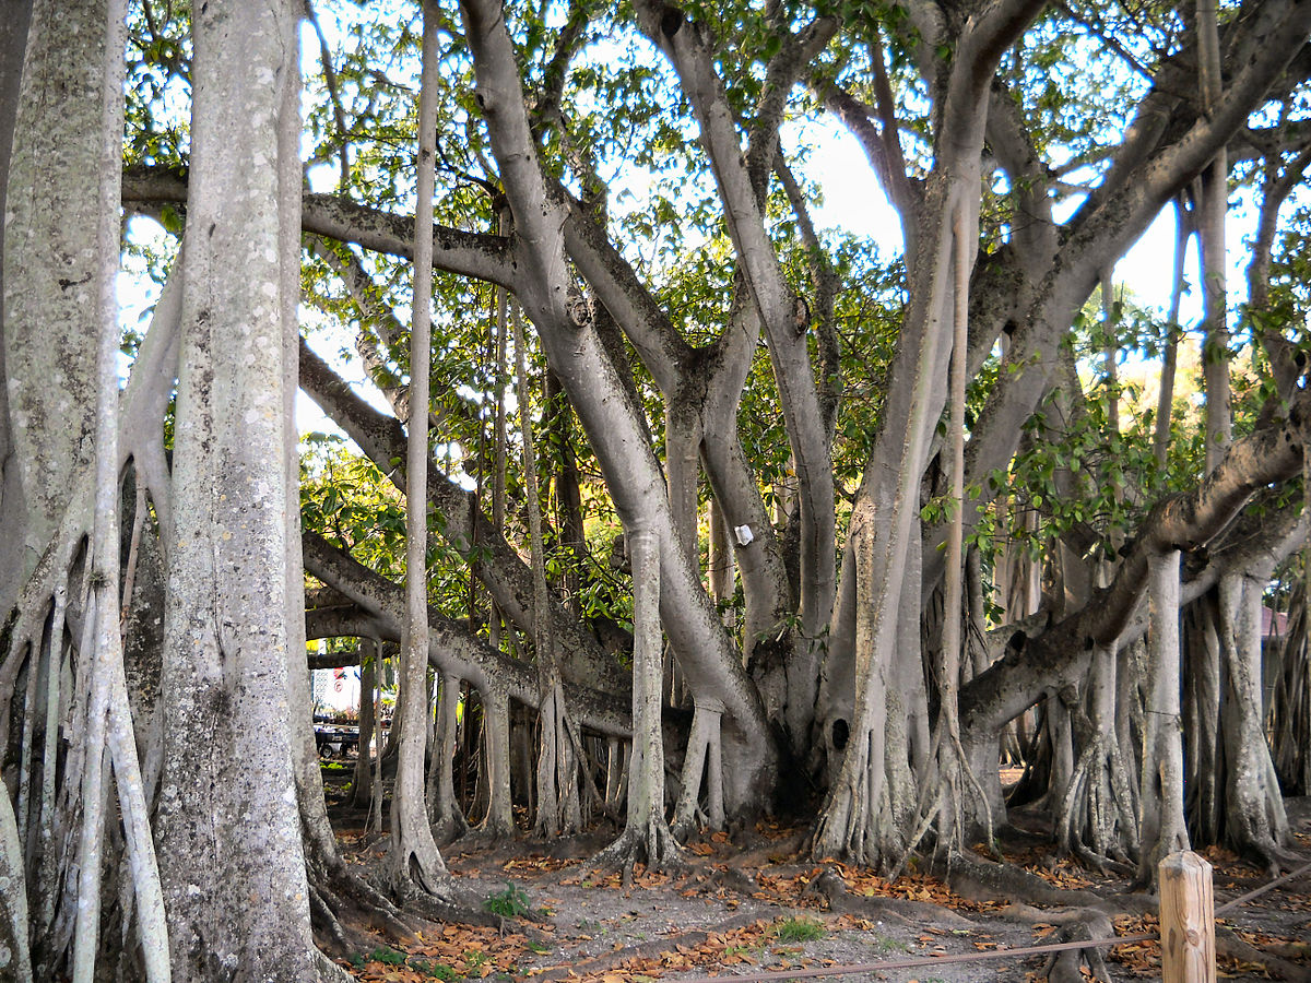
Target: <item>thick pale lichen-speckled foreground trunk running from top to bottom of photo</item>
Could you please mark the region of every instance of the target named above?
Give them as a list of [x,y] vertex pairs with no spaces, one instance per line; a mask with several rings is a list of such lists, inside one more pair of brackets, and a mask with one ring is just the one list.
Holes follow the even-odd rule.
[[[317,979],[287,723],[282,83],[295,14],[193,25],[191,201],[157,840],[174,980]],[[258,815],[252,824],[246,817]],[[233,903],[257,895],[258,907]]]

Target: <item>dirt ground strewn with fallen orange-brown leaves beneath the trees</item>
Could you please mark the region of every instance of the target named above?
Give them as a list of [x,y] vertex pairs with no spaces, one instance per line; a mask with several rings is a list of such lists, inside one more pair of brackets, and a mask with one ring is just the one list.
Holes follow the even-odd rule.
[[[329,785],[329,802],[333,797]],[[1299,865],[1311,862],[1311,798],[1289,800],[1289,810]],[[363,835],[361,814],[330,813],[347,858],[376,865],[385,838]],[[861,969],[823,978],[1030,980],[1044,978],[1047,954],[986,957],[1062,940],[1080,921],[1091,932],[1084,938],[1108,929],[1117,936],[1156,931],[1154,915],[1134,914],[1154,910],[1152,899],[1125,894],[1121,878],[1055,860],[1036,835],[1041,823],[1041,817],[1021,815],[1017,826],[1030,827],[1029,835],[1021,831],[1003,843],[1007,860],[1054,889],[1078,893],[1053,894],[1041,906],[983,900],[986,891],[977,886],[962,887],[971,895],[964,896],[923,873],[888,882],[843,864],[813,862],[802,849],[806,830],[768,823],[732,841],[722,834],[692,841],[682,870],[649,873],[638,865],[628,882],[587,862],[614,831],[549,843],[520,838],[488,844],[472,835],[443,851],[460,895],[499,912],[531,907],[531,916],[509,917],[501,931],[443,924],[408,942],[379,936],[374,952],[343,965],[358,979],[384,983],[802,980],[853,966]],[[1209,851],[1207,857],[1215,866],[1217,906],[1269,881],[1226,852]],[[1058,903],[1067,898],[1072,903]],[[1106,920],[1087,917],[1097,899]],[[1311,980],[1311,873],[1223,914],[1219,925],[1222,979]],[[1112,980],[1160,978],[1155,941],[1101,952]],[[937,962],[895,966],[924,958]],[[1071,971],[1067,979],[1089,973],[1087,966]]]

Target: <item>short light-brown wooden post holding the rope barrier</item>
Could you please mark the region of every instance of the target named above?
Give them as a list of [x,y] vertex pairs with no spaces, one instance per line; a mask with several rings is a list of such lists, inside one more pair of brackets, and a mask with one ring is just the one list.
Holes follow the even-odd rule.
[[1160,861],[1163,983],[1215,983],[1211,865],[1192,851]]

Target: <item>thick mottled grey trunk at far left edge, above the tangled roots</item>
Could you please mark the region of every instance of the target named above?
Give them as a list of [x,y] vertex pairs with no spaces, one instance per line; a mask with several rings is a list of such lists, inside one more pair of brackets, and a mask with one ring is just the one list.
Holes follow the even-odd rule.
[[105,24],[104,3],[35,4],[18,93],[3,345],[9,439],[26,505],[16,527],[26,530],[24,553],[12,570],[20,583],[92,474],[97,347],[88,315],[96,309],[100,202],[89,176],[100,173]]

